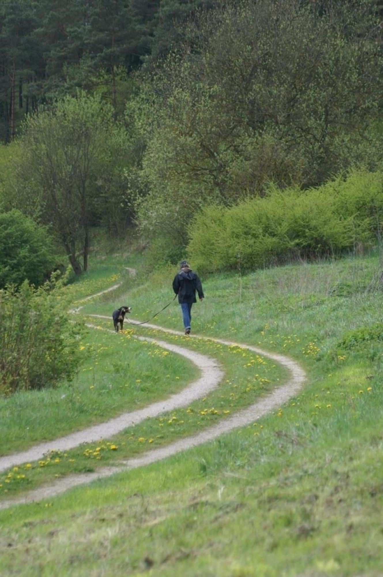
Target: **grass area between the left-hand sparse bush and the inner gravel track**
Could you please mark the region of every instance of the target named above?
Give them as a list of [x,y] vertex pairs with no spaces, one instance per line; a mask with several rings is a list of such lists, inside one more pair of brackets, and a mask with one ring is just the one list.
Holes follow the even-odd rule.
[[[87,329],[78,346],[84,361],[72,383],[17,392],[2,400],[1,455],[167,398],[199,374],[187,359],[154,350],[130,332],[114,335]],[[178,374],[182,380],[175,378]]]

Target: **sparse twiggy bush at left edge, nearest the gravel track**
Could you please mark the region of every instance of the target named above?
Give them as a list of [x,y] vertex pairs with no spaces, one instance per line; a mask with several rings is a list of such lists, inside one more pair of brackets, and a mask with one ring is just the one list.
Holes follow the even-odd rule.
[[[53,284],[53,288],[52,288]],[[70,321],[55,282],[0,290],[0,393],[71,380],[79,362],[80,327]]]

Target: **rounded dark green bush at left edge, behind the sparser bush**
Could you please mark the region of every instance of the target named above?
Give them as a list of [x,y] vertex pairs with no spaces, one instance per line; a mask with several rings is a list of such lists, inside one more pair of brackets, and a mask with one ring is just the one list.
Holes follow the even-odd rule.
[[52,253],[45,228],[16,209],[0,213],[0,287],[42,283],[54,265]]

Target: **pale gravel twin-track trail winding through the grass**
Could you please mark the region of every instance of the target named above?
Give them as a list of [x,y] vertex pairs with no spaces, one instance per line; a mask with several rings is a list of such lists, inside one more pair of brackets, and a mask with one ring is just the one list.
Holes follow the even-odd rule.
[[[129,270],[132,273],[134,269]],[[91,295],[81,300],[90,300],[91,298],[95,298],[101,294],[114,290],[114,288],[119,286],[120,284],[116,284],[107,290],[101,291],[100,293]],[[78,310],[81,308],[82,307],[71,310],[70,312],[78,312]],[[110,317],[104,316],[102,314],[92,314],[89,316],[110,320]],[[129,322],[132,324],[138,324],[140,321],[134,321],[130,319]],[[95,325],[88,324],[88,326],[96,328]],[[159,331],[173,335],[183,335],[183,332],[163,328],[159,325],[147,323],[145,324],[145,327],[157,329]],[[171,350],[174,353],[181,354],[184,357],[190,359],[201,370],[202,374],[200,379],[193,381],[193,383],[190,383],[185,389],[182,389],[182,391],[179,391],[177,394],[171,395],[168,399],[152,403],[147,407],[144,407],[144,409],[139,409],[130,413],[124,413],[119,415],[119,417],[110,419],[109,421],[99,425],[94,425],[87,429],[82,429],[81,431],[71,433],[65,437],[61,437],[60,439],[48,441],[48,443],[41,443],[35,447],[32,447],[31,449],[28,449],[27,451],[1,457],[0,471],[9,469],[9,467],[17,464],[40,459],[42,458],[43,454],[49,451],[52,447],[60,450],[67,450],[69,448],[76,447],[81,443],[111,437],[112,435],[120,432],[128,426],[137,425],[145,418],[155,417],[165,411],[171,411],[179,407],[188,406],[193,400],[201,398],[202,396],[205,396],[211,392],[214,388],[217,387],[220,380],[223,378],[224,373],[216,359],[212,359],[206,355],[196,353],[195,351],[191,351],[184,347],[165,341],[137,335],[134,336],[140,340],[155,342],[164,349]],[[185,451],[186,449],[196,447],[197,445],[206,443],[207,441],[212,441],[219,437],[221,434],[227,433],[232,429],[248,425],[254,420],[259,419],[260,417],[269,413],[271,410],[276,409],[276,407],[279,407],[281,404],[285,403],[292,396],[298,394],[298,392],[303,387],[303,384],[305,383],[306,374],[304,370],[297,362],[289,357],[286,357],[286,355],[269,353],[268,351],[264,351],[258,347],[254,347],[248,344],[236,343],[223,339],[215,339],[201,335],[190,335],[190,338],[213,340],[217,343],[225,344],[228,346],[236,345],[254,351],[257,354],[278,362],[280,365],[284,366],[284,368],[287,368],[291,374],[290,380],[288,380],[288,382],[284,385],[281,385],[281,387],[274,389],[271,393],[258,400],[256,403],[246,407],[246,409],[242,409],[230,417],[221,419],[217,424],[208,429],[202,430],[200,433],[186,437],[185,439],[174,441],[174,443],[171,443],[166,447],[152,449],[151,451],[147,451],[143,455],[137,456],[135,458],[120,461],[118,467],[102,467],[93,473],[67,475],[62,479],[57,479],[57,481],[49,486],[42,486],[35,490],[31,490],[27,493],[24,493],[24,495],[21,497],[17,497],[13,500],[1,501],[0,509],[5,509],[16,504],[31,503],[32,501],[48,499],[50,497],[54,497],[57,494],[63,493],[67,489],[70,489],[74,486],[86,484],[91,481],[95,481],[96,479],[109,477],[110,475],[114,473],[120,473],[121,471],[136,469],[137,467],[142,467],[161,459],[165,459],[168,456],[175,455],[181,451]]]

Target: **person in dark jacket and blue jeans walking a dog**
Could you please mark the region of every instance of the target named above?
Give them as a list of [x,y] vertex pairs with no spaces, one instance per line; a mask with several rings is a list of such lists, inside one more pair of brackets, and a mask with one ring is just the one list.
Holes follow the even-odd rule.
[[193,302],[197,302],[196,291],[200,301],[203,301],[205,297],[200,279],[189,267],[186,260],[182,260],[181,263],[179,263],[179,268],[180,271],[175,275],[173,280],[173,290],[175,294],[178,294],[178,302],[181,305],[185,335],[190,335],[192,305]]

